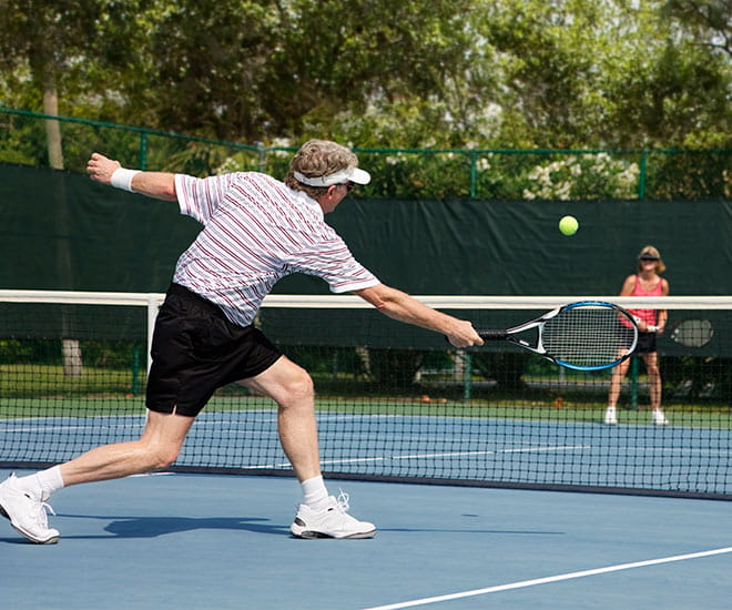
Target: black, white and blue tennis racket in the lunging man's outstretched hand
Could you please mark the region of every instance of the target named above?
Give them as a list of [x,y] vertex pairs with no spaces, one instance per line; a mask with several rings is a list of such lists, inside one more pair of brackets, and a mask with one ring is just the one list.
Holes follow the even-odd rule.
[[[531,333],[533,337],[518,335]],[[636,349],[638,325],[622,307],[602,301],[570,303],[505,331],[478,331],[485,340],[508,340],[573,370],[619,365]]]

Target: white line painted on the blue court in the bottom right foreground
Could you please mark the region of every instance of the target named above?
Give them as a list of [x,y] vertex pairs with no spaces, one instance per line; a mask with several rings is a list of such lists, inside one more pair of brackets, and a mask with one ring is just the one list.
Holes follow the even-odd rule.
[[661,557],[660,559],[649,559],[647,561],[636,561],[633,563],[620,563],[618,566],[608,566],[607,568],[596,568],[593,570],[583,570],[581,572],[569,572],[566,575],[549,576],[546,578],[537,578],[533,580],[521,580],[519,582],[509,582],[508,584],[498,584],[497,587],[487,587],[486,589],[474,589],[472,591],[462,591],[460,593],[450,593],[447,596],[438,596],[434,598],[415,599],[411,601],[403,601],[400,603],[392,603],[388,606],[375,606],[373,608],[365,608],[364,610],[399,610],[400,608],[414,608],[416,606],[427,606],[428,603],[438,603],[440,601],[450,601],[454,599],[482,596],[485,593],[496,593],[498,591],[509,591],[511,589],[522,589],[526,587],[535,587],[537,584],[547,584],[549,582],[559,582],[561,580],[583,578],[586,576],[603,575],[608,572],[619,572],[621,570],[632,570],[636,568],[644,568],[647,566],[658,566],[660,563],[671,563],[673,561],[699,559],[700,557],[711,557],[713,555],[723,555],[726,552],[732,552],[732,547],[725,547],[723,549],[714,549],[711,551],[692,552],[689,555],[677,555],[673,557]]

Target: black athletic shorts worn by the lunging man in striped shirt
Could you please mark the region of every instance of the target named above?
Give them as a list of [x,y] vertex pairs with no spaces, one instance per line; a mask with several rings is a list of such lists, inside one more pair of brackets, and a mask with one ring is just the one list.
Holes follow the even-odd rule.
[[155,322],[148,408],[195,417],[217,388],[263,373],[281,356],[254,326],[231,323],[213,303],[171,284]]

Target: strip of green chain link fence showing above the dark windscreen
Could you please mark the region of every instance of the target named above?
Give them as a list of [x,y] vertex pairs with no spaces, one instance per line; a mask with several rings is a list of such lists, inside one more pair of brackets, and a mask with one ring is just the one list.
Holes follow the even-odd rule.
[[[211,175],[284,176],[297,145],[241,144],[0,108],[0,162],[48,165],[45,128],[61,124],[64,167],[83,172],[92,151],[130,167]],[[373,181],[357,196],[577,201],[729,197],[732,149],[358,149]]]

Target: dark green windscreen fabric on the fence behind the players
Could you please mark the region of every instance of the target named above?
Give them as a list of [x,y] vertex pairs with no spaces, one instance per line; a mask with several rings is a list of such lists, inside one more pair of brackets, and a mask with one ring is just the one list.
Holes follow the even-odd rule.
[[[0,287],[164,292],[201,226],[85,175],[0,164]],[[565,214],[580,222],[563,236]],[[677,295],[732,294],[732,202],[346,200],[326,216],[384,283],[413,294],[617,294],[655,245]],[[275,292],[326,293],[295,275]]]

